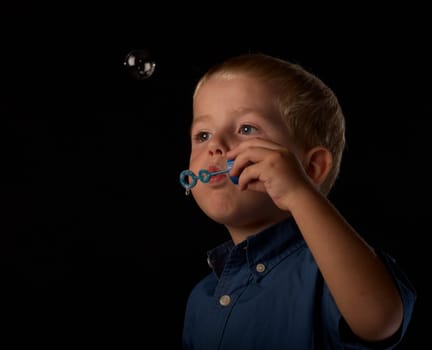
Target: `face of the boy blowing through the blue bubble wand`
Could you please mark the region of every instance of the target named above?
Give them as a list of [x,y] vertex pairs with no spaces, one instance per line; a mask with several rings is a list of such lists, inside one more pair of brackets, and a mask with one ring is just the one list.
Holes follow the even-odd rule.
[[[201,169],[225,169],[226,153],[253,137],[292,147],[274,101],[267,86],[247,76],[208,80],[194,99],[189,169],[195,174]],[[227,174],[214,176],[208,183],[198,181],[192,195],[209,217],[228,227],[280,215],[267,194],[239,191]]]

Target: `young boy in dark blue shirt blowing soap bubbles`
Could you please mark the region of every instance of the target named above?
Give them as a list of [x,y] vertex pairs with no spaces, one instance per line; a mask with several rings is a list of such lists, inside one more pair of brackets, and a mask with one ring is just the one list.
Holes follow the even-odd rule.
[[212,271],[189,296],[184,349],[391,349],[401,341],[415,290],[327,198],[345,146],[329,87],[276,57],[228,59],[197,84],[191,141],[194,174],[234,162],[190,189],[231,240],[208,252]]

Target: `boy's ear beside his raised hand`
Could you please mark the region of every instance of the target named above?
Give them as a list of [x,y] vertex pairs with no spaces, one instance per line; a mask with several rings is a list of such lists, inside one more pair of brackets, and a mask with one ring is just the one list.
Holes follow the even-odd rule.
[[333,166],[333,156],[327,148],[315,147],[306,154],[306,173],[312,182],[321,185]]

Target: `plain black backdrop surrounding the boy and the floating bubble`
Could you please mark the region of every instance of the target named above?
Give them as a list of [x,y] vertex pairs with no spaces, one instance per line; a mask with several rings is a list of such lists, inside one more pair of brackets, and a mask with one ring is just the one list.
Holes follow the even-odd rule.
[[[330,197],[418,291],[399,348],[427,341],[424,10],[257,8],[255,17],[222,10],[189,20],[192,10],[132,5],[2,11],[4,334],[45,347],[180,347],[188,292],[208,272],[205,252],[228,239],[178,182],[192,89],[213,63],[261,51],[302,64],[339,96],[348,147]],[[147,80],[123,65],[136,49],[156,62]]]

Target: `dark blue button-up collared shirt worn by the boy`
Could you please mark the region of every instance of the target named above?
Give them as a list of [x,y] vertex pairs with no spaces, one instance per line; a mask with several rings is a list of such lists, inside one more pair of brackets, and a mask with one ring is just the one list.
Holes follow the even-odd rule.
[[405,308],[400,331],[385,344],[368,345],[350,334],[295,221],[289,219],[237,246],[229,241],[208,252],[213,271],[189,296],[183,349],[391,349],[406,331],[416,295],[394,260],[380,254]]

